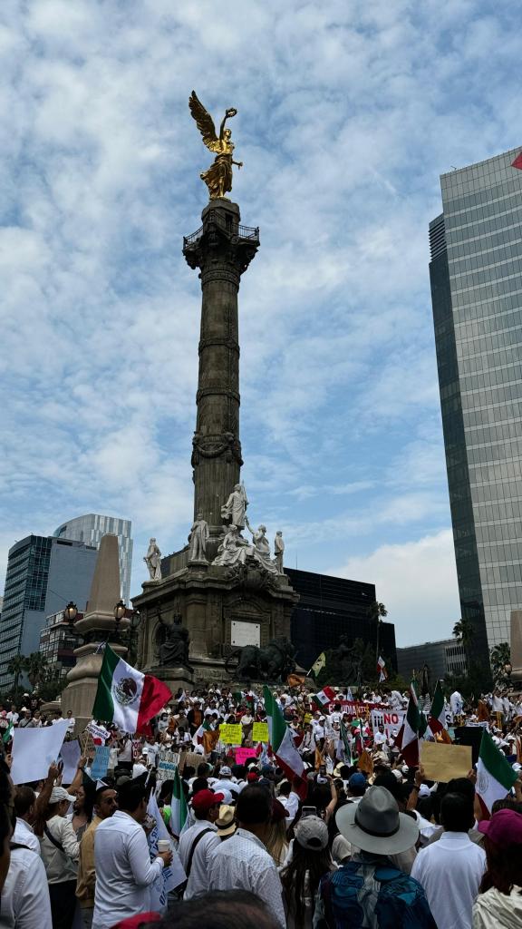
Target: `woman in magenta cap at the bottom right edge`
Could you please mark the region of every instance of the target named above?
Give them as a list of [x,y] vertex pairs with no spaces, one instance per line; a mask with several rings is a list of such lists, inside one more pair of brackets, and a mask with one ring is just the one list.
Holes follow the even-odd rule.
[[478,823],[486,871],[473,907],[473,929],[522,925],[522,814],[502,809]]

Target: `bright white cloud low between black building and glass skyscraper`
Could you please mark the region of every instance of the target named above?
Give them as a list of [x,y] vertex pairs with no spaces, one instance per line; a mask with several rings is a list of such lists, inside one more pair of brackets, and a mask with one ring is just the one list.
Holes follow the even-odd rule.
[[389,622],[395,623],[399,647],[450,637],[461,615],[450,530],[415,542],[380,545],[329,573],[375,584]]

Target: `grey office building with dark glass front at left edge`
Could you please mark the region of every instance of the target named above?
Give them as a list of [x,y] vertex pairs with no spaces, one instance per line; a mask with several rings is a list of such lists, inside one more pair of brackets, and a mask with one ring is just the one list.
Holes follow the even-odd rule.
[[9,549],[0,620],[0,690],[12,686],[7,665],[40,647],[46,616],[69,600],[85,610],[98,552],[93,545],[29,535]]

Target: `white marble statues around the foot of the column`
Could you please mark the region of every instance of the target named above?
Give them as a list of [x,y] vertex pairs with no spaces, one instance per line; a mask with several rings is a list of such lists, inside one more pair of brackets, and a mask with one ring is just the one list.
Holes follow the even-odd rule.
[[[224,536],[212,564],[227,568],[233,567],[237,564],[244,564],[246,558],[251,556],[271,573],[282,574],[284,542],[281,530],[276,533],[274,539],[274,557],[272,558],[267,527],[261,525],[257,530],[252,529],[246,516],[247,506],[248,499],[244,486],[236,484],[227,503],[221,507],[221,517],[230,521],[223,526]],[[241,530],[245,526],[252,535],[252,543],[248,539],[243,539],[241,535]],[[203,519],[202,513],[196,514],[189,532],[189,564],[208,564],[209,535],[208,523]],[[155,539],[150,539],[149,550],[143,560],[149,568],[150,581],[161,581],[162,553]]]

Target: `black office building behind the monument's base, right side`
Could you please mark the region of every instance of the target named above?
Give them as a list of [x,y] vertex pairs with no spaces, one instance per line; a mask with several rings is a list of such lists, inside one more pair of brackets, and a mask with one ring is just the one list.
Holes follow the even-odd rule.
[[[306,670],[311,668],[321,651],[337,648],[341,635],[347,636],[349,646],[362,639],[376,648],[376,625],[368,616],[368,608],[375,602],[373,584],[294,568],[285,568],[284,572],[299,594],[291,620],[298,664]],[[379,650],[392,672],[397,668],[392,622],[380,623]]]

